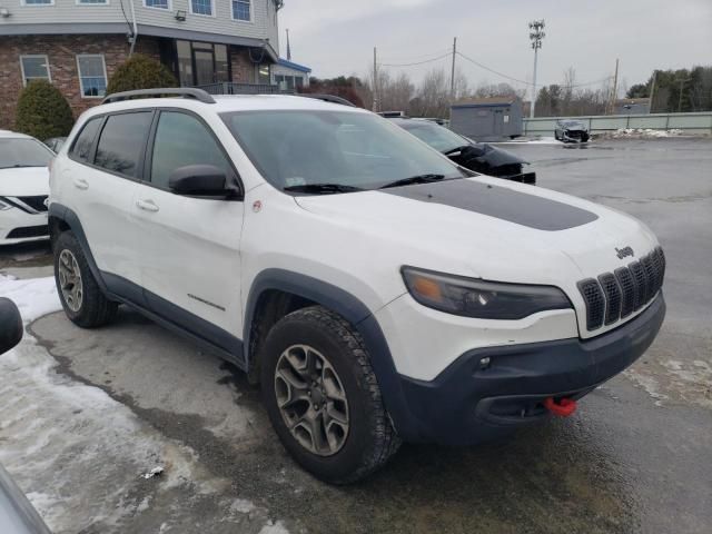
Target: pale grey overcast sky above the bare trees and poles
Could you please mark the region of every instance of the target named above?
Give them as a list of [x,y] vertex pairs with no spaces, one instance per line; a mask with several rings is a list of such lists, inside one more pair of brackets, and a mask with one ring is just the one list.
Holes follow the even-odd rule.
[[[616,58],[629,86],[653,68],[712,65],[712,0],[285,0],[280,46],[286,56],[288,28],[293,61],[330,78],[364,75],[374,46],[379,62],[406,63],[447,53],[457,37],[462,53],[531,81],[527,22],[541,18],[537,86],[561,82],[567,67],[580,83],[600,80]],[[461,58],[457,65],[473,86],[507,81]],[[403,70],[419,79],[433,67],[449,69],[449,58]]]

